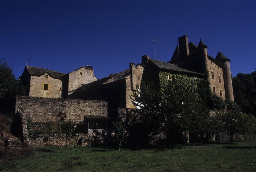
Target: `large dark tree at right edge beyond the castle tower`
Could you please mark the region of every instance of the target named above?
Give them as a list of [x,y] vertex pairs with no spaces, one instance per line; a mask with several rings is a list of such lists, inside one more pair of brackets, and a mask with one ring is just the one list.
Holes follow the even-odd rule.
[[235,102],[242,111],[256,116],[256,71],[237,74],[233,78],[233,90]]

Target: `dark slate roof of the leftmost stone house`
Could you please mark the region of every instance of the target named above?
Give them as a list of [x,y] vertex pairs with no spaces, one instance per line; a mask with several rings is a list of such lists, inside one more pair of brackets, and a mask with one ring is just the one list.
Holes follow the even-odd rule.
[[45,73],[49,74],[53,78],[58,78],[58,79],[61,79],[62,76],[64,76],[64,74],[61,72],[44,69],[41,67],[26,66],[26,68],[28,69],[29,74],[35,75],[35,76],[41,76]]

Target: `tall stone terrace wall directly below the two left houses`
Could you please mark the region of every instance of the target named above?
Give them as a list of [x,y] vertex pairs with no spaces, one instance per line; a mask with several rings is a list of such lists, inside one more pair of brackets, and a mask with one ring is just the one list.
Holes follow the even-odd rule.
[[16,98],[15,104],[15,113],[17,112],[23,113],[32,122],[50,122],[62,119],[79,123],[84,121],[84,115],[107,116],[108,102],[19,96]]

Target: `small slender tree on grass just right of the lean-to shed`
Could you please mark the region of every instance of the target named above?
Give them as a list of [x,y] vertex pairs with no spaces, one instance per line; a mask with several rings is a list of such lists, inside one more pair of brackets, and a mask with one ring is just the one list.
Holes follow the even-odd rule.
[[118,143],[118,149],[121,150],[121,147],[124,143],[124,136],[125,136],[125,125],[121,121],[117,121],[114,123],[116,140]]

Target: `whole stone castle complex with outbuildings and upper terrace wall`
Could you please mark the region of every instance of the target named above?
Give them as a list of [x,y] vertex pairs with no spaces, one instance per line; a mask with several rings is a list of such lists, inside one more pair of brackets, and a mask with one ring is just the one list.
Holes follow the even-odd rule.
[[83,66],[68,74],[26,66],[20,80],[27,96],[16,98],[15,113],[23,119],[23,138],[28,142],[25,125],[28,117],[32,122],[57,121],[58,115],[64,112],[65,120],[84,122],[87,133],[90,129],[105,129],[111,119],[121,118],[127,109],[136,108],[130,98],[132,90],[140,87],[144,79],[159,82],[160,72],[208,76],[214,94],[234,100],[229,62],[220,51],[216,58],[211,57],[202,40],[196,46],[188,43],[188,36],[184,35],[179,37],[179,45],[169,62],[144,55],[141,63],[130,63],[128,69],[102,79],[94,76],[92,66]]

